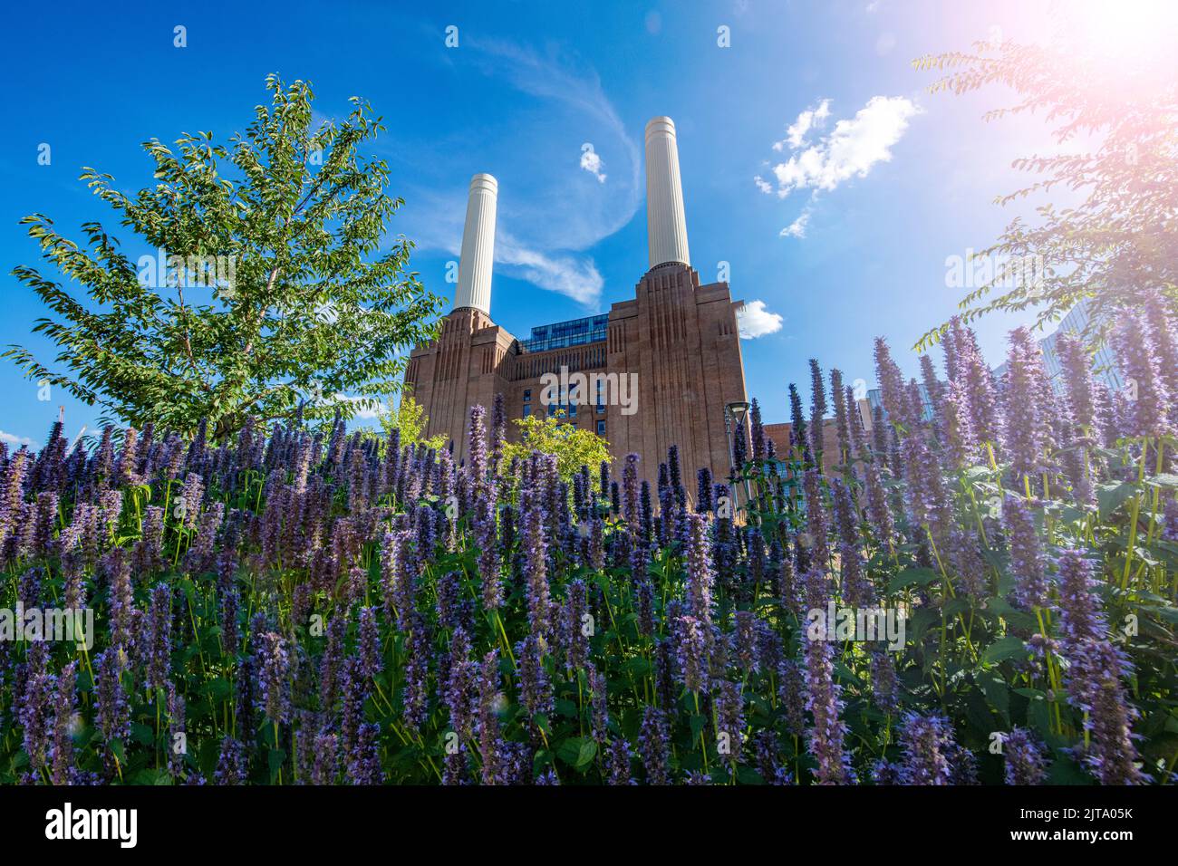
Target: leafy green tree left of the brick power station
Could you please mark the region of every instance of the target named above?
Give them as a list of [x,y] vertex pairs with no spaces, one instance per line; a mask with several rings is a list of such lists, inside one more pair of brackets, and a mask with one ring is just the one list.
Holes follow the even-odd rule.
[[205,418],[218,437],[300,404],[311,421],[351,417],[399,388],[404,349],[434,336],[442,303],[409,272],[411,242],[382,250],[403,201],[385,194],[385,163],[360,148],[385,127],[353,98],[346,119],[312,128],[309,82],[271,75],[266,88],[271,104],[229,147],[210,132],[184,134],[174,151],[145,143],[157,183],[134,197],[84,170],[159,251],[138,267],[99,223],[82,224],[79,245],[44,214],[22,220],[90,299],[34,267],[13,271],[57,313],[33,330],[57,343],[59,370],[22,346],[5,352],[28,377],[132,425],[191,431]]

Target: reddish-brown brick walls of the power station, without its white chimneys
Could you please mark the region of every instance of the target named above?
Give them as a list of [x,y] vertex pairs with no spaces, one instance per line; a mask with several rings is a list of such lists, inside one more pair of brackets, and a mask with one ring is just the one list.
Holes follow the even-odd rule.
[[[435,343],[410,355],[405,384],[429,416],[426,435],[446,434],[455,458],[466,449],[466,418],[479,403],[490,412],[495,395],[504,397],[507,417],[519,418],[524,406],[547,412],[542,403],[544,373],[636,373],[636,411],[608,403],[577,406],[568,423],[597,431],[604,421],[615,471],[626,455],[642,456],[641,477],[654,484],[667,448],[677,444],[684,484],[694,490],[695,470],[708,467],[716,478],[728,474],[724,405],[746,401],[736,311],[727,283],[700,285],[688,265],[669,263],[648,271],[633,300],[609,311],[604,341],[547,351],[527,351],[511,333],[471,308],[457,309],[443,320]],[[530,397],[530,399],[528,399]],[[516,438],[515,424],[508,424]]]

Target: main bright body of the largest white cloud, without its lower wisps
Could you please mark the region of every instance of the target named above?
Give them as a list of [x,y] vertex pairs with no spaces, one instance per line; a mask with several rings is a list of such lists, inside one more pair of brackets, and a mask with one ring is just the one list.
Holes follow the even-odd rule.
[[905,97],[872,97],[854,118],[838,121],[828,135],[773,167],[777,196],[805,189],[830,191],[851,178],[867,177],[874,165],[892,159],[892,147],[920,112]]

